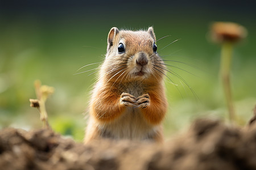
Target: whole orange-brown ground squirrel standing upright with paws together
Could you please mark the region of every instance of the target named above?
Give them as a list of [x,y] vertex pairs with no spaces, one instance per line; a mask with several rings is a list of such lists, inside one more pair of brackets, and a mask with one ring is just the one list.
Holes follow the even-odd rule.
[[90,100],[85,143],[101,138],[163,141],[166,67],[155,42],[152,27],[110,29],[106,58]]

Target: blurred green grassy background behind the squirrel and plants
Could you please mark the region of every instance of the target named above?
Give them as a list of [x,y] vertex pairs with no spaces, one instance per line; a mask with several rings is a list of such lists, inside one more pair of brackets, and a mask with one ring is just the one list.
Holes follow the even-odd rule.
[[[84,65],[103,61],[110,28],[151,25],[157,39],[171,35],[157,42],[158,52],[178,61],[167,63],[199,98],[183,80],[168,74],[177,86],[166,79],[167,137],[197,117],[227,120],[218,74],[220,45],[208,40],[214,21],[240,23],[249,33],[236,45],[232,63],[234,105],[238,124],[244,125],[256,104],[255,6],[255,1],[0,1],[0,128],[42,126],[39,112],[28,101],[36,97],[34,81],[40,79],[55,87],[46,104],[52,128],[82,141],[83,113],[96,74],[74,74],[99,64],[77,72]],[[164,48],[176,39],[181,40]]]

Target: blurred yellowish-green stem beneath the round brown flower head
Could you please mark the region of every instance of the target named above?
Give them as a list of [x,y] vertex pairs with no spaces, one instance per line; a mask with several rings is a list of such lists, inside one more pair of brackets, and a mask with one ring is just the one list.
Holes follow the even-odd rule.
[[232,101],[232,92],[230,87],[230,65],[232,60],[232,42],[223,42],[221,50],[221,79],[224,88],[224,94],[226,98],[226,103],[229,110],[229,120],[230,122],[235,121],[236,115],[234,113],[233,101]]

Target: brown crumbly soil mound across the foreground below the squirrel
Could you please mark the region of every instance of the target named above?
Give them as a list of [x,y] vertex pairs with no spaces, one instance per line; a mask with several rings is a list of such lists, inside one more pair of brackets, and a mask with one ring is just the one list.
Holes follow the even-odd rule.
[[200,119],[162,146],[100,141],[86,146],[52,130],[0,131],[0,169],[256,169],[256,126]]

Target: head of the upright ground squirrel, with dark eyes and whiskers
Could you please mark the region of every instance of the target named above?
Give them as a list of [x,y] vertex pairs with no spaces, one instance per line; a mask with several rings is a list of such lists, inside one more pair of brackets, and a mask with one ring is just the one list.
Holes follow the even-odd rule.
[[113,27],[108,35],[108,47],[102,73],[108,81],[159,81],[166,72],[158,56],[154,29],[121,30]]

